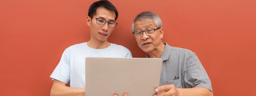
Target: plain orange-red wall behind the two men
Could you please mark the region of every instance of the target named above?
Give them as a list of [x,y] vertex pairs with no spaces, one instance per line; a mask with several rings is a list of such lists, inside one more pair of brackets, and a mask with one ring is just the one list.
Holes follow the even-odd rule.
[[[90,39],[92,0],[0,1],[0,95],[48,96],[62,52]],[[156,12],[164,42],[195,52],[215,96],[255,96],[255,0],[111,0],[118,25],[108,41],[145,57],[131,34],[133,18]],[[253,39],[254,38],[254,39]]]

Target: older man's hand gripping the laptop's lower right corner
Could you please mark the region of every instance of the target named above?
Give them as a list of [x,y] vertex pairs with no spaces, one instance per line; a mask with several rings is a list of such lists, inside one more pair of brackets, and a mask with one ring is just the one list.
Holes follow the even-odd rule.
[[160,86],[156,88],[155,91],[160,92],[160,94],[153,96],[179,96],[179,91],[173,84]]

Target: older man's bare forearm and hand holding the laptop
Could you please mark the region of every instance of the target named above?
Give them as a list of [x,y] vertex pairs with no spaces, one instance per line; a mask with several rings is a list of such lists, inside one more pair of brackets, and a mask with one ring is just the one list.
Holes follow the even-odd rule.
[[175,88],[173,84],[158,87],[156,92],[160,94],[153,96],[213,96],[213,93],[204,87]]

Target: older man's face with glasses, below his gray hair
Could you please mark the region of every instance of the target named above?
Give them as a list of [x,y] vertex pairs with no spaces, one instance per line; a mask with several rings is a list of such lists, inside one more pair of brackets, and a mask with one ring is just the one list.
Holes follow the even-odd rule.
[[[134,22],[134,32],[137,31],[145,31],[148,29],[156,29],[157,26],[152,20],[144,20],[144,21],[136,21]],[[152,35],[146,35],[145,32],[143,32],[142,36],[136,37],[136,41],[138,46],[141,50],[147,53],[154,52],[158,49],[158,46],[163,43],[164,30],[163,28],[160,28],[154,32]]]

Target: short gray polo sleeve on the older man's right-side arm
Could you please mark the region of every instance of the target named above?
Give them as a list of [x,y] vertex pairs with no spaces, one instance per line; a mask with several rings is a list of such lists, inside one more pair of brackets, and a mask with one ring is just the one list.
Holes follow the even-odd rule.
[[204,87],[212,91],[210,78],[196,54],[187,58],[184,79],[186,87]]

